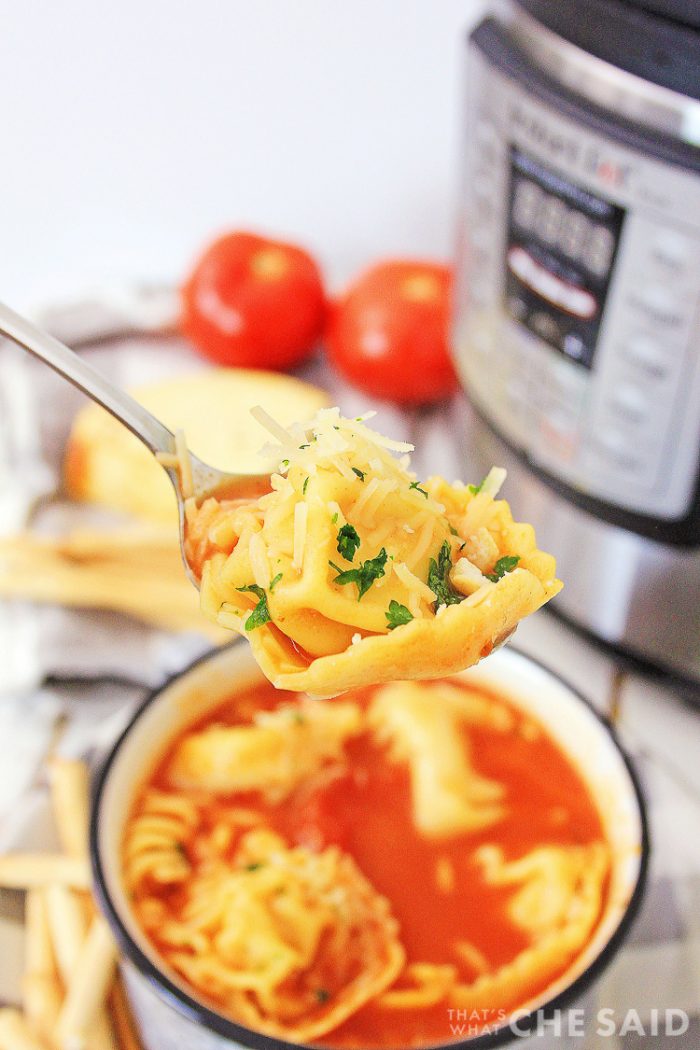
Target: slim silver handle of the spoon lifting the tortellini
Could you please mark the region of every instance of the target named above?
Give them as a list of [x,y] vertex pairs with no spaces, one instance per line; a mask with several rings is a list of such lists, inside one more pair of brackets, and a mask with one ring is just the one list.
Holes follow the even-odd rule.
[[0,302],[0,335],[40,358],[60,376],[87,394],[93,401],[110,412],[115,419],[135,434],[152,453],[172,453],[175,439],[171,430],[151,416],[143,405],[119,386],[105,379],[100,372],[68,350],[62,342],[42,332],[26,318]]

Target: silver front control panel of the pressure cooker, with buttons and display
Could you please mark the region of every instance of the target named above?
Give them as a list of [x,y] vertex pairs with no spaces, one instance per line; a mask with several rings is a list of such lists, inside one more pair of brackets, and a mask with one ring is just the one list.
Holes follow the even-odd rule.
[[545,475],[683,518],[700,450],[700,176],[472,56],[458,364]]

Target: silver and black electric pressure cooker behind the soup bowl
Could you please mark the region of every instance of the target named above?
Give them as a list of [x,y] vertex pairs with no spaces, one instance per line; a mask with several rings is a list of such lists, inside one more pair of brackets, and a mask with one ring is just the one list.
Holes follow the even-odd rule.
[[556,609],[700,681],[700,4],[518,0],[469,38],[458,368]]

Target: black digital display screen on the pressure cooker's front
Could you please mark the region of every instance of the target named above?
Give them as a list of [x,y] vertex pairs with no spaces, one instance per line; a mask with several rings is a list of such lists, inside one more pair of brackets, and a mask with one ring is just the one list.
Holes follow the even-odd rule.
[[515,146],[510,162],[506,310],[590,369],[624,209]]

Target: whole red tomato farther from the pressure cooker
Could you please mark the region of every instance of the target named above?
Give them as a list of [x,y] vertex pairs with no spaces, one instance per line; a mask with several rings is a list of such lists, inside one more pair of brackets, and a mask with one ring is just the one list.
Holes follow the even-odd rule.
[[288,369],[323,331],[318,267],[301,248],[229,233],[198,260],[182,292],[181,328],[220,364]]

